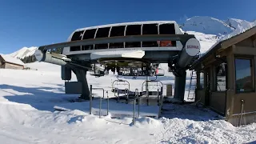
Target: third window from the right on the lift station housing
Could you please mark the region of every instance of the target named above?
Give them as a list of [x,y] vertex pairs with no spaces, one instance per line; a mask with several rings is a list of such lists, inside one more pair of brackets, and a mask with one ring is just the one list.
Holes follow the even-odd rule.
[[[141,25],[130,25],[126,27],[126,35],[141,35]],[[141,47],[141,42],[126,42],[126,47]]]

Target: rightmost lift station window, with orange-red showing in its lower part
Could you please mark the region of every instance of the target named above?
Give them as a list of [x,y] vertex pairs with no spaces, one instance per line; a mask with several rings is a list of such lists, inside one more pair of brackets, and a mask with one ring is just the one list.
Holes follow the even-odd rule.
[[[173,23],[159,25],[159,34],[175,34]],[[176,46],[176,41],[161,41],[160,46]]]

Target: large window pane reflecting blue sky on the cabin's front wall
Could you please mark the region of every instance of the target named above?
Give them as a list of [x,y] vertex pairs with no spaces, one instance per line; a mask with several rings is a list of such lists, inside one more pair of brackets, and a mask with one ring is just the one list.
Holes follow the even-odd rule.
[[252,62],[250,59],[235,59],[235,86],[237,93],[254,91]]

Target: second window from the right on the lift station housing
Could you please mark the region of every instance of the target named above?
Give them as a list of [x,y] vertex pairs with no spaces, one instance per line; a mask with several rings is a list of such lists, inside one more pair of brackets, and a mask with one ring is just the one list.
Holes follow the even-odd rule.
[[[142,26],[142,34],[158,34],[158,24],[144,24]],[[142,42],[142,47],[158,47],[158,42]]]

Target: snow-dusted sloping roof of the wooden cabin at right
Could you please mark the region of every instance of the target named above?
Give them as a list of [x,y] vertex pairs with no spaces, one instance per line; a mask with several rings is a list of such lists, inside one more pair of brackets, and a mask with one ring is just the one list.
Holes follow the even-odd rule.
[[227,34],[223,38],[219,39],[218,42],[216,42],[213,46],[210,47],[209,50],[206,51],[206,53],[202,54],[202,56],[192,64],[190,70],[194,69],[195,66],[202,62],[202,60],[206,59],[210,54],[213,54],[215,51],[221,48],[232,46],[235,43],[240,42],[238,40],[241,40],[241,38],[243,40],[254,34],[256,34],[256,22],[252,22],[252,24],[246,28],[238,28],[234,30],[232,33]]

